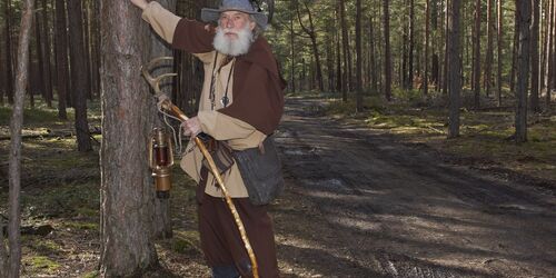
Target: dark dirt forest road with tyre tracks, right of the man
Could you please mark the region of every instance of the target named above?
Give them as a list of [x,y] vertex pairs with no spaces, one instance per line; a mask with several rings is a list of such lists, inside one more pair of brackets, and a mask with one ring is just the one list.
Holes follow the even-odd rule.
[[288,99],[276,137],[285,277],[556,277],[553,190],[340,125],[316,105]]

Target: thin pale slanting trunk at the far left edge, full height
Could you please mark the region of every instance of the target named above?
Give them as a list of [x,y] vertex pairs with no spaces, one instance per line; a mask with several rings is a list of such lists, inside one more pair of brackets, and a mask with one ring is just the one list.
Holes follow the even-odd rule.
[[[23,126],[23,98],[28,79],[29,67],[29,40],[32,26],[33,1],[26,0],[22,9],[21,26],[18,42],[18,63],[16,71],[16,93],[13,110],[10,120],[9,155],[9,208],[8,208],[8,241],[9,241],[9,278],[19,277],[21,267],[21,129]],[[1,231],[0,231],[1,232]],[[3,246],[3,241],[2,248]],[[4,271],[6,272],[6,271]]]

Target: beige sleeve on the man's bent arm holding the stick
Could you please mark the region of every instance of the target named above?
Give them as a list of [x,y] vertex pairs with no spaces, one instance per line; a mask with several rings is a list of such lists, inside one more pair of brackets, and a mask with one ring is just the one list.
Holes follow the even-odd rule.
[[255,148],[266,138],[251,125],[218,111],[199,111],[197,117],[203,132],[217,140],[228,140],[234,149]]

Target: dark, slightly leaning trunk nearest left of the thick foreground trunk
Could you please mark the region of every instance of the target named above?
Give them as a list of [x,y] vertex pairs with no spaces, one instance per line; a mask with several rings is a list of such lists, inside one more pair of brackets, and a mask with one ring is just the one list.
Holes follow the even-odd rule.
[[89,122],[87,120],[87,97],[90,87],[87,85],[88,69],[86,64],[83,20],[81,0],[68,1],[68,18],[70,31],[70,67],[71,91],[73,93],[73,108],[76,109],[76,135],[79,151],[92,150]]

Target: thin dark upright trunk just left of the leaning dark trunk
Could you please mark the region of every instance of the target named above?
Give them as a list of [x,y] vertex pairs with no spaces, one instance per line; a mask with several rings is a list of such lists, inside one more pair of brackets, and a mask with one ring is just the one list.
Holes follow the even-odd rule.
[[68,93],[68,41],[66,31],[66,4],[63,0],[56,1],[56,78],[58,92],[58,118],[66,120],[67,93]]

